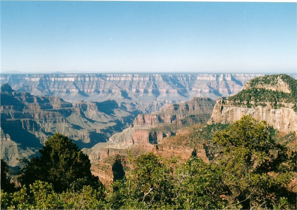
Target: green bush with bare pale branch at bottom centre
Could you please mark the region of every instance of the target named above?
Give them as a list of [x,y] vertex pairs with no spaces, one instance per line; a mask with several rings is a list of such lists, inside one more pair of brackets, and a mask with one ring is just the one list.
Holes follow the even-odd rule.
[[172,170],[153,153],[129,158],[130,171],[113,184],[108,198],[112,209],[168,209]]

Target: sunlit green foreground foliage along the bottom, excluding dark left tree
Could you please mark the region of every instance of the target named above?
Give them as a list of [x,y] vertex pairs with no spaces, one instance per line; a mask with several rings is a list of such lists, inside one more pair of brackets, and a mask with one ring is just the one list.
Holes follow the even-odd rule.
[[[197,135],[203,139],[209,164],[195,154],[181,163],[153,153],[133,157],[128,151],[123,178],[114,179],[110,188],[80,182],[80,187],[70,184],[61,191],[54,187],[56,182],[52,178],[39,181],[35,176],[33,183],[23,185],[17,192],[1,190],[1,208],[296,209],[296,192],[288,187],[296,177],[296,149],[286,146],[287,141],[296,139],[295,133],[279,138],[278,132],[264,121],[244,116],[229,126],[208,125],[190,135],[193,139],[198,139]],[[56,143],[62,142],[65,141]],[[50,145],[53,143],[46,146]],[[70,143],[67,145],[75,150]],[[77,164],[76,159],[72,161],[72,165]],[[56,177],[61,176],[56,174]]]

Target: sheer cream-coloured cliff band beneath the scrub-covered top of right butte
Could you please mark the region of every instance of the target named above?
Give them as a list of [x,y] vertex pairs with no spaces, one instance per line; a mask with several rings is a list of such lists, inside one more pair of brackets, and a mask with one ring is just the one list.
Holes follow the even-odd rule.
[[292,108],[274,109],[271,107],[271,103],[267,102],[266,104],[265,107],[247,108],[234,106],[232,102],[226,100],[218,100],[214,106],[211,121],[214,123],[234,123],[244,115],[250,114],[256,120],[265,120],[268,125],[280,131],[297,131],[297,113]]

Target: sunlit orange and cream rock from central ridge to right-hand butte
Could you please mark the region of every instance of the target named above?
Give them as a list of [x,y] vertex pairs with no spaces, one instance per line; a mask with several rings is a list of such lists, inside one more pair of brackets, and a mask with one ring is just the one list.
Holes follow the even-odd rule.
[[[238,105],[238,101],[228,100],[228,98],[221,98],[214,103],[214,100],[210,98],[194,97],[188,102],[164,105],[156,113],[139,114],[129,128],[112,135],[108,145],[99,143],[91,149],[84,150],[94,164],[92,171],[100,177],[103,183],[110,184],[113,177],[110,160],[118,157],[118,160],[126,163],[127,149],[134,155],[153,152],[163,157],[181,157],[182,160],[187,160],[195,153],[197,157],[209,162],[206,155],[206,144],[201,140],[195,143],[194,139],[190,137],[191,133],[201,130],[207,121],[208,124],[230,124],[241,119],[242,116],[250,114],[257,121],[265,120],[269,126],[278,129],[283,134],[296,131],[297,113],[293,109],[296,102],[285,102],[287,99],[295,100],[293,96],[294,91],[296,92],[296,80],[289,78],[290,83],[293,83],[292,88],[280,79],[279,75],[273,77],[277,79],[273,85],[263,85],[260,82],[254,85],[255,81],[250,80],[246,83],[244,90],[267,89],[274,91],[273,93],[277,91],[276,95],[286,93],[287,95],[284,96],[288,98],[280,99],[276,104],[264,100],[263,104],[256,105],[256,100],[253,98],[243,101],[240,105]],[[260,79],[263,78],[260,77]],[[262,101],[260,102],[262,103]],[[183,122],[187,122],[187,124],[183,124]],[[102,165],[105,166],[105,169],[102,168]]]

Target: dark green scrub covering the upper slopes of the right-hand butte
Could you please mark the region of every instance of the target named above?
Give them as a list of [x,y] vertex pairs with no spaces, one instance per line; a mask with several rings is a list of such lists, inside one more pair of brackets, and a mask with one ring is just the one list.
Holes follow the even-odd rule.
[[[288,85],[290,93],[258,87],[261,85],[277,85],[279,79],[282,79]],[[228,100],[232,101],[234,105],[244,105],[249,108],[258,105],[266,106],[266,102],[271,102],[274,109],[284,106],[282,102],[293,103],[293,109],[297,111],[297,80],[286,74],[257,77],[249,81],[247,89],[243,89],[238,94],[228,97]]]

